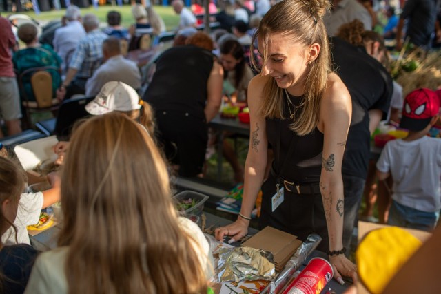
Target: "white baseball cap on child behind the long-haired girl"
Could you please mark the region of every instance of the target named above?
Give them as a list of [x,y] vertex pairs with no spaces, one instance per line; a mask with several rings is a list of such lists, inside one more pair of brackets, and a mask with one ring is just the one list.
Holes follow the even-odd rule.
[[116,81],[105,83],[94,100],[85,105],[87,112],[95,116],[113,111],[127,112],[140,108],[139,95],[134,88]]

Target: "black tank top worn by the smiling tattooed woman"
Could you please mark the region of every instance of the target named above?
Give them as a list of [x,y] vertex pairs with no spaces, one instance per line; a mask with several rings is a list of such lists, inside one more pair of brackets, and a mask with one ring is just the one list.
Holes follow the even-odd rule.
[[[291,98],[294,105],[299,106],[303,96],[289,95],[289,98]],[[289,125],[291,125],[292,120],[289,119],[288,101],[286,98],[283,101],[283,116],[285,119],[266,119],[267,138],[274,151],[272,167],[278,176],[290,182],[296,182],[296,184],[318,183],[322,169],[323,134],[317,127],[305,136],[298,136],[291,131]],[[302,106],[297,109],[297,113],[301,111]],[[291,112],[294,112],[293,106],[291,106]],[[280,139],[278,139],[278,136]],[[280,147],[278,147],[279,144]],[[290,145],[295,150],[291,152],[290,158],[287,158]],[[286,165],[286,167],[283,167],[283,165]],[[280,174],[282,168],[283,174]]]

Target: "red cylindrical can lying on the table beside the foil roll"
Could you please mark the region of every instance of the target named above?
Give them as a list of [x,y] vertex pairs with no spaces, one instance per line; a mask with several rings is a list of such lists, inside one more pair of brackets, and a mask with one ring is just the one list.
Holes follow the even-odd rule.
[[332,277],[331,264],[323,258],[313,258],[283,294],[319,294]]

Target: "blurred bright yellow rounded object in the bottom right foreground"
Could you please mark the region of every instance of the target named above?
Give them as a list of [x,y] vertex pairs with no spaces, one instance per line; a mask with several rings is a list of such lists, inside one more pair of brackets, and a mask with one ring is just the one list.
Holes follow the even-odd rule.
[[361,282],[369,292],[382,293],[391,278],[420,246],[420,240],[398,227],[371,231],[356,251]]

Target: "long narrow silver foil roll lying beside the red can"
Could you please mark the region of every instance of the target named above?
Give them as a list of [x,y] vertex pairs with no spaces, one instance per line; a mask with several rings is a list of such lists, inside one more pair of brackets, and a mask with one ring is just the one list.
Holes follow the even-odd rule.
[[289,258],[287,264],[283,267],[283,270],[272,280],[267,288],[262,291],[263,293],[279,293],[291,280],[291,277],[296,273],[298,268],[302,266],[303,262],[308,256],[316,250],[318,244],[322,241],[322,238],[317,234],[311,234],[307,237],[300,247],[296,250],[296,253]]

